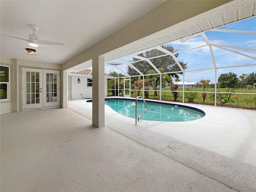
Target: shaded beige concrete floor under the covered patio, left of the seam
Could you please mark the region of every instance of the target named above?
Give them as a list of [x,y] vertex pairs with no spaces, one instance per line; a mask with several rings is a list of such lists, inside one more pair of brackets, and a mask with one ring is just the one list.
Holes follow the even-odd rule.
[[1,192],[232,191],[154,148],[91,123],[70,109],[1,115]]

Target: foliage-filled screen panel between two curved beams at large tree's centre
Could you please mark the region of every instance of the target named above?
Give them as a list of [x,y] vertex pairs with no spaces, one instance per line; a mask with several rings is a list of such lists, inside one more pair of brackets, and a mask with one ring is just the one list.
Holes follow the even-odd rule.
[[[174,58],[170,55],[162,56],[154,59],[150,59],[150,61],[156,66],[156,68],[163,68],[162,73],[166,72],[181,72],[178,64],[175,62]],[[183,62],[180,61],[181,66],[183,66]]]

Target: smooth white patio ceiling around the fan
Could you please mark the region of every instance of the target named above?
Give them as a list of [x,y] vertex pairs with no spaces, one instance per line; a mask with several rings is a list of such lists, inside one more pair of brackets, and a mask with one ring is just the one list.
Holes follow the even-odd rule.
[[[26,41],[0,36],[0,55],[62,64],[164,1],[0,1],[1,34],[26,38],[34,24],[41,40],[65,46],[39,46],[37,56],[25,54]],[[56,50],[61,50],[62,52]]]

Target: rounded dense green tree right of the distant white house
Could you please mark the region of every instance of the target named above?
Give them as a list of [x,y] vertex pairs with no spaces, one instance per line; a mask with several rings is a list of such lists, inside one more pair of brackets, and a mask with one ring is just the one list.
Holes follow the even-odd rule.
[[220,84],[221,88],[233,88],[238,82],[239,80],[237,78],[237,74],[233,72],[221,74],[218,78],[218,83]]

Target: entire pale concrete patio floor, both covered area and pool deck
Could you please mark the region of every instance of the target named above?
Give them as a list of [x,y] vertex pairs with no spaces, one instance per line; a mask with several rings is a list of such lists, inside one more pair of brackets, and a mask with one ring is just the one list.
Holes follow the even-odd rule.
[[[192,105],[191,122],[140,122],[92,103],[1,115],[1,191],[255,192],[256,113]],[[220,183],[221,182],[221,183]]]

